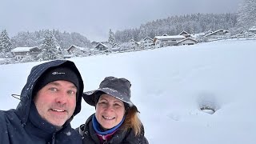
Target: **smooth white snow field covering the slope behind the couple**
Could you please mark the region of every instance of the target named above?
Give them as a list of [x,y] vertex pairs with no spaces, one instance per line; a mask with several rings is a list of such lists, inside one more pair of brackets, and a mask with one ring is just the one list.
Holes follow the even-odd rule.
[[[81,71],[85,91],[106,76],[127,78],[150,143],[256,143],[256,40],[225,40],[194,46],[71,58]],[[0,109],[15,108],[32,66],[0,66]],[[215,110],[201,110],[203,106]],[[82,102],[71,122],[86,122],[94,107]]]

